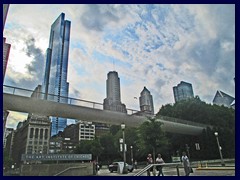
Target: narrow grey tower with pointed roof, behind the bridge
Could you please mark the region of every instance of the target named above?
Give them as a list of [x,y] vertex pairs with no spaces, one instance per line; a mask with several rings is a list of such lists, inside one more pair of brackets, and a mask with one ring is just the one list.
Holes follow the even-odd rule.
[[141,112],[154,114],[153,98],[150,91],[144,86],[139,98]]

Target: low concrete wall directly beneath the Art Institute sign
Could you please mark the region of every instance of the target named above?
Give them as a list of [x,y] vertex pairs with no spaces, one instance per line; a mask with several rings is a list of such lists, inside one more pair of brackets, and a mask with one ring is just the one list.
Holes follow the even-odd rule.
[[93,163],[24,164],[21,176],[92,176]]

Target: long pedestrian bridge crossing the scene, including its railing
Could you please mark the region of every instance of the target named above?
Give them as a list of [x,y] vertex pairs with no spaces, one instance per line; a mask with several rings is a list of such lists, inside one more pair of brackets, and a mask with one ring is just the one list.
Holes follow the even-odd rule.
[[[129,127],[138,127],[144,121],[147,121],[145,116],[135,115],[134,113],[137,111],[133,109],[128,109],[128,113],[125,114],[103,110],[103,104],[97,102],[61,97],[61,99],[67,98],[68,103],[59,103],[36,98],[43,96],[42,93],[39,93],[36,97],[31,97],[32,93],[32,90],[4,85],[3,110],[107,123],[111,125],[125,123],[126,126]],[[48,94],[48,96],[54,95]],[[208,125],[170,117],[160,117],[157,120],[163,123],[162,129],[164,131],[179,134],[199,135],[203,129],[208,127]]]

